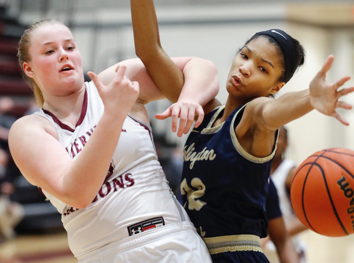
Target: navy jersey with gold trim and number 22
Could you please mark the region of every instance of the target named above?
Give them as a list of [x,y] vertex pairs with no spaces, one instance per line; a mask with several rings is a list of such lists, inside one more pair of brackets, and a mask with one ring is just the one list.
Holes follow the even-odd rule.
[[182,201],[202,238],[267,236],[265,199],[278,131],[272,154],[257,158],[247,153],[235,134],[245,106],[212,127],[225,106],[217,107],[191,131],[184,146]]

